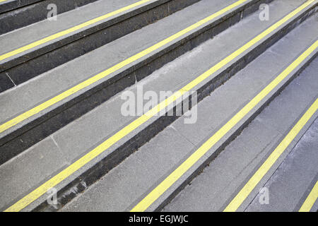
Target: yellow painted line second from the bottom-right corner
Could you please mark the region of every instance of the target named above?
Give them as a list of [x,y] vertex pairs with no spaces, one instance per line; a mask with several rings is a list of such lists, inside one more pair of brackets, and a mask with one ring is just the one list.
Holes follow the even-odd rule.
[[225,212],[234,212],[241,206],[243,201],[245,201],[245,198],[249,196],[249,194],[253,191],[255,186],[259,184],[261,179],[265,176],[265,174],[271,169],[273,164],[278,160],[278,157],[283,154],[286,148],[288,148],[288,145],[293,141],[295,136],[298,135],[300,130],[305,126],[308,120],[312,117],[312,115],[317,111],[318,109],[318,99],[312,104],[310,109],[305,112],[305,114],[302,116],[302,118],[295,124],[293,129],[289,131],[287,136],[281,141],[281,143],[273,150],[273,153],[269,155],[269,157],[265,160],[265,162],[257,169],[257,172],[249,179],[247,184],[242,188],[242,190],[235,196],[235,198],[232,199],[230,204],[225,208]]

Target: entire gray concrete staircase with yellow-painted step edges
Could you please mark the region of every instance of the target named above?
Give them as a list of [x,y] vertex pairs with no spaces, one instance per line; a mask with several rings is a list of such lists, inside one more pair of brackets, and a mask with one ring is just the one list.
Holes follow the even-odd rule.
[[[0,1],[0,210],[224,210],[316,106],[317,3]],[[237,210],[264,210],[259,189],[275,193],[317,116]],[[307,159],[299,196],[266,210],[300,208],[318,175]]]

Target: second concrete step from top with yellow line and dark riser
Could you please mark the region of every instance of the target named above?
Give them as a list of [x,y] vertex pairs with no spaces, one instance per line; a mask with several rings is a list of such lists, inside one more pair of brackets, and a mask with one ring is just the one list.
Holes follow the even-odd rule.
[[[213,37],[216,32],[227,28],[227,25],[236,22],[237,20],[234,18],[240,17],[240,13],[235,14],[234,18],[228,18],[228,20],[223,20],[223,13],[215,18],[215,13],[228,6],[227,4],[229,3],[224,1],[202,0],[159,20],[153,25],[148,25],[146,28],[95,49],[95,51],[85,54],[69,62],[69,64],[64,64],[30,80],[28,83],[0,94],[1,106],[4,106],[0,116],[1,163],[6,162],[71,121],[101,105],[124,88],[133,85],[136,81],[141,81],[142,78],[148,76],[163,64],[192,49],[196,44]],[[284,13],[287,14],[300,5],[299,1],[293,3],[288,1],[286,7],[283,4],[283,2],[278,3],[282,11],[273,14],[276,15],[275,20],[261,23],[259,29],[247,33],[249,36],[242,37],[245,40],[240,43],[244,44],[250,38],[259,34],[262,31],[261,29],[268,28],[274,21],[284,16]],[[271,45],[281,35],[293,28],[293,25],[313,13],[314,5],[310,4],[305,7],[279,28],[273,30],[251,51],[244,54],[244,57],[249,58],[242,64],[247,64],[253,56],[262,51],[262,48]],[[233,11],[245,7],[247,6],[243,4],[232,8],[230,11],[233,13]],[[274,8],[273,11],[276,12]],[[213,13],[211,21],[209,20],[204,25],[190,30],[180,37],[173,36],[172,40],[165,43],[167,40],[165,38],[169,35],[175,34],[182,28],[189,28],[189,25],[196,23],[201,18],[206,18],[211,13]],[[229,16],[228,13],[227,11],[225,16]],[[257,16],[255,14],[254,18],[257,18]],[[220,20],[223,22],[216,25]],[[175,24],[178,24],[178,26]],[[181,25],[182,28],[180,28]],[[216,27],[213,25],[216,25]],[[209,28],[208,26],[211,26],[210,30],[206,30]],[[201,35],[195,36],[204,30],[206,31]],[[158,42],[158,40],[164,40],[164,44]],[[159,46],[158,43],[160,43]],[[145,46],[148,49],[144,50]],[[240,47],[240,45],[236,45],[236,47]],[[231,50],[235,51],[235,49]],[[226,53],[230,52],[224,53],[223,57],[226,57]],[[240,59],[243,60],[243,56]],[[231,66],[228,69],[231,69]],[[233,71],[235,70],[237,69],[233,69]],[[99,73],[100,71],[102,72]]]

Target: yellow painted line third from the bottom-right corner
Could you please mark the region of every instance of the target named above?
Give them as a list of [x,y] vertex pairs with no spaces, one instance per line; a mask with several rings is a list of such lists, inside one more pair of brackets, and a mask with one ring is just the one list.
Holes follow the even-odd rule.
[[[214,133],[211,138],[208,139],[199,149],[197,149],[187,160],[182,162],[182,164],[175,169],[163,182],[161,182],[151,193],[149,193],[143,200],[141,200],[134,208],[131,209],[131,212],[141,212],[145,211],[151,204],[156,201],[167,189],[175,184],[177,180],[182,177],[182,175],[187,172],[196,162],[200,160],[200,158],[205,155],[208,150],[210,150],[213,145],[218,143],[223,136],[225,136],[230,129],[232,129],[240,120],[245,117],[261,100],[268,95],[271,90],[276,88],[276,86],[283,81],[290,72],[293,71],[302,61],[304,61],[310,53],[312,53],[318,47],[318,41],[315,42],[309,49],[306,50],[298,59],[296,59],[293,64],[290,64],[287,69],[285,69],[278,77],[276,77],[269,85],[261,90],[256,97],[254,97],[245,107],[243,107],[240,112],[235,114],[230,121],[228,121],[220,130]],[[316,102],[316,109],[318,106],[318,100]]]

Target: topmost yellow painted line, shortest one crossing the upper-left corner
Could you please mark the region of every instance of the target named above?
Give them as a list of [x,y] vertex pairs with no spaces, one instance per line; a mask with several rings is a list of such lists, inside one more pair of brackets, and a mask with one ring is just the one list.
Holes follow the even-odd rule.
[[[0,1],[1,1],[1,0],[0,0]],[[0,61],[2,61],[2,60],[4,60],[4,59],[7,59],[8,57],[15,56],[16,54],[20,54],[21,52],[25,52],[25,51],[27,51],[27,50],[29,50],[29,49],[33,49],[33,48],[35,48],[35,47],[37,47],[37,46],[39,46],[39,45],[41,45],[41,44],[45,44],[46,42],[55,40],[55,39],[57,39],[57,38],[59,38],[59,37],[62,37],[62,36],[64,36],[64,35],[68,35],[68,34],[70,34],[71,32],[75,32],[76,30],[80,30],[80,29],[82,29],[82,28],[86,28],[86,27],[88,27],[89,25],[92,25],[92,24],[94,24],[94,23],[98,23],[98,22],[100,22],[101,20],[105,20],[105,19],[107,19],[107,18],[110,18],[111,16],[115,16],[115,15],[117,15],[117,14],[119,14],[119,13],[124,12],[124,11],[128,11],[129,9],[134,8],[134,7],[136,7],[136,6],[140,6],[141,4],[145,4],[145,3],[148,2],[148,1],[151,1],[151,0],[137,1],[137,2],[134,3],[134,4],[131,4],[131,5],[129,5],[129,6],[125,6],[125,7],[123,7],[123,8],[119,8],[119,9],[117,9],[116,11],[112,11],[111,13],[107,13],[107,14],[105,14],[105,15],[103,15],[103,16],[99,16],[98,18],[94,18],[94,19],[92,19],[92,20],[88,20],[88,21],[86,21],[85,23],[81,23],[81,24],[79,24],[79,25],[74,26],[73,28],[69,28],[69,29],[63,30],[63,31],[61,31],[61,32],[57,32],[57,33],[54,34],[54,35],[49,35],[48,37],[42,38],[41,40],[38,40],[38,41],[33,42],[33,43],[31,43],[31,44],[27,44],[27,45],[25,45],[25,46],[23,46],[23,47],[20,47],[20,48],[15,49],[15,50],[13,50],[13,51],[11,51],[11,52],[8,52],[8,53],[6,53],[6,54],[1,55],[1,56],[0,56]]]

